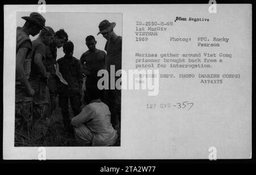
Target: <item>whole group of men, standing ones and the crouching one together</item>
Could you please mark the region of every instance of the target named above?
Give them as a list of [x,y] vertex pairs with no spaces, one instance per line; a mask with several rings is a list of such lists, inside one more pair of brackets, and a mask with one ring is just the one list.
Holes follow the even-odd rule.
[[[107,40],[106,53],[96,48],[90,35],[85,39],[88,50],[77,59],[64,29],[55,32],[45,26],[46,19],[37,12],[22,19],[26,22],[16,29],[15,139],[17,135],[30,136],[34,142],[44,139],[58,98],[65,132],[86,146],[113,145],[120,135],[121,90],[98,89],[97,73],[106,69],[110,76],[110,65],[121,69],[122,37],[115,34],[115,23],[103,20],[98,25],[97,35]],[[29,36],[38,33],[31,41]],[[65,56],[57,59],[61,47]],[[81,109],[82,94],[86,106]]]

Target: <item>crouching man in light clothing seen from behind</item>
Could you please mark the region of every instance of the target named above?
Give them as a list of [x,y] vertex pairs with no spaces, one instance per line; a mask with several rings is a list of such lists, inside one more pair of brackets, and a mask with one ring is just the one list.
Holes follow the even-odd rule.
[[118,135],[110,122],[109,107],[100,100],[99,89],[87,90],[90,103],[71,120],[76,139],[84,146],[112,146]]

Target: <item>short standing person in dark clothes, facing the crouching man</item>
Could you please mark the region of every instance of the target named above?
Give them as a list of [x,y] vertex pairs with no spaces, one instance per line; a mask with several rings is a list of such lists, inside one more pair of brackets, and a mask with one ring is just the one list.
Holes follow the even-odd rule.
[[73,42],[68,41],[63,45],[63,52],[65,56],[57,60],[60,73],[66,80],[68,85],[60,83],[59,86],[59,105],[63,116],[64,127],[67,131],[72,132],[69,113],[68,102],[70,100],[74,116],[80,113],[81,106],[81,92],[82,92],[82,73],[79,59],[73,57],[74,45]]

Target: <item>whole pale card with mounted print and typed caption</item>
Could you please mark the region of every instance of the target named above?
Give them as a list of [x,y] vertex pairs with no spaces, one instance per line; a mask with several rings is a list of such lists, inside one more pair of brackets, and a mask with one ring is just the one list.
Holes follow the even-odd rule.
[[[247,3],[5,5],[3,159],[250,160],[252,15]],[[159,168],[125,166],[98,172]]]

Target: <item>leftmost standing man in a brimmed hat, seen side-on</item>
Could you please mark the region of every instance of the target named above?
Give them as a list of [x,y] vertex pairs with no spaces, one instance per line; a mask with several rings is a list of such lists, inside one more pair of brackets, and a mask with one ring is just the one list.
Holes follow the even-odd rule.
[[28,56],[32,50],[29,36],[38,35],[40,30],[45,28],[46,22],[37,12],[23,16],[22,19],[26,20],[26,23],[16,29],[15,138],[16,132],[23,131],[23,127],[28,131],[32,122],[32,96],[35,91],[28,82],[31,64],[31,58]]

